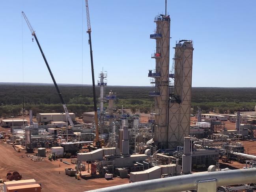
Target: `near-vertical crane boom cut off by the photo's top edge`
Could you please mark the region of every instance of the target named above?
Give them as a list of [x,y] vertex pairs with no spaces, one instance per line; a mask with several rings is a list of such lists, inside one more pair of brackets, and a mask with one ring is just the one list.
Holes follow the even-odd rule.
[[96,101],[96,91],[95,91],[95,80],[94,80],[94,69],[93,69],[93,56],[92,56],[92,38],[91,38],[91,22],[90,22],[90,13],[88,7],[88,0],[85,0],[86,6],[86,18],[87,18],[87,33],[89,35],[88,43],[90,45],[90,56],[91,56],[91,65],[92,65],[92,88],[93,88],[93,103],[94,103],[94,119],[96,125],[96,136],[95,144],[99,146],[99,125],[98,125],[98,114],[97,114],[97,101]]

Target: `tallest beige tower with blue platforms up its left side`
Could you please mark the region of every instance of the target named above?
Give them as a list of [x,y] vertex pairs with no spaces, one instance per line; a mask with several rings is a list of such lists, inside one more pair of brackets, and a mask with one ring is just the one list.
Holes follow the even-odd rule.
[[159,15],[155,17],[157,24],[155,33],[150,35],[156,40],[156,50],[151,58],[155,58],[155,70],[149,70],[148,76],[153,78],[151,84],[155,84],[155,91],[149,92],[149,96],[155,97],[155,129],[154,141],[159,147],[167,147],[168,127],[168,88],[169,88],[169,63],[170,63],[170,16]]

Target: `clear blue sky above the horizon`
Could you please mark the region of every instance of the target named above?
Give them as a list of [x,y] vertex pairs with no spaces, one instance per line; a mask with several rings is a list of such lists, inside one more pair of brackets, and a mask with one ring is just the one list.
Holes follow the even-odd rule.
[[[254,0],[168,0],[171,58],[176,40],[194,41],[193,87],[256,87],[255,7]],[[89,0],[89,8],[95,76],[104,67],[109,85],[150,86],[149,34],[164,0]],[[1,0],[0,82],[23,82],[23,47],[24,82],[52,83],[21,11],[57,83],[92,84],[84,0]]]

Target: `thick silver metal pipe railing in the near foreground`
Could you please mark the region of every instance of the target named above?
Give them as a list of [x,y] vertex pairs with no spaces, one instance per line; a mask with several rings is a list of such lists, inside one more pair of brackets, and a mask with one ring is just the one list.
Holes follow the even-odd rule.
[[217,186],[256,183],[256,168],[195,173],[111,186],[90,192],[216,192]]

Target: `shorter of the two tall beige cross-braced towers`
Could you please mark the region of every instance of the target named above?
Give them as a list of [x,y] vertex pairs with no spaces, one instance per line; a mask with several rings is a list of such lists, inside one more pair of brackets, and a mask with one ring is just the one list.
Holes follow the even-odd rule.
[[192,41],[182,40],[176,44],[174,100],[169,103],[168,147],[183,145],[184,137],[189,136],[192,88]]

